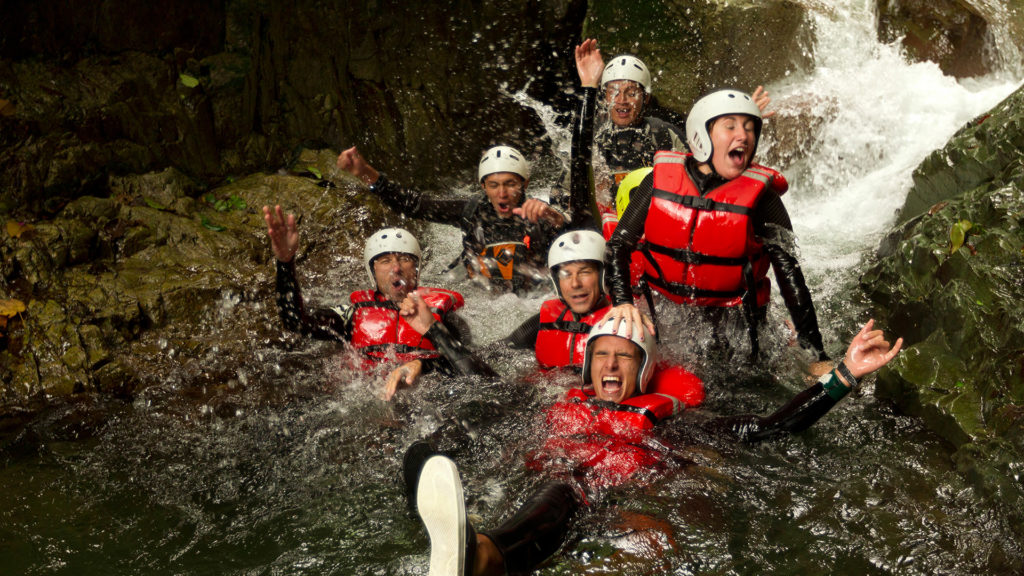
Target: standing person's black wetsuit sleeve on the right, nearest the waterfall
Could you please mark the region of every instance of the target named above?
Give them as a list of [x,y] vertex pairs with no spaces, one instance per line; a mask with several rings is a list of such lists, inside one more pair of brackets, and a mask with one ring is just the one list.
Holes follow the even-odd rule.
[[811,291],[795,255],[793,223],[777,194],[765,192],[764,199],[758,204],[754,232],[765,241],[765,250],[771,260],[782,301],[797,328],[800,345],[816,352],[818,360],[827,360]]

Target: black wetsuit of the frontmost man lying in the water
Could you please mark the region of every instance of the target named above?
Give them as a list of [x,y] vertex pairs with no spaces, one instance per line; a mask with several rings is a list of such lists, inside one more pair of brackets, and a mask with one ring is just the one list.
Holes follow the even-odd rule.
[[[425,334],[463,375],[495,377],[495,371],[478,360],[439,323]],[[838,390],[838,392],[837,392]],[[833,376],[798,394],[785,406],[769,416],[754,414],[718,417],[702,423],[712,430],[722,430],[746,442],[758,442],[781,434],[798,433],[810,427],[824,416],[845,396],[847,389]],[[425,460],[421,455],[419,460]],[[417,474],[406,470],[406,478]],[[409,480],[407,480],[409,482]],[[481,531],[502,552],[506,572],[529,572],[555,553],[568,534],[572,517],[583,506],[580,490],[587,487],[577,482],[552,480],[519,507],[516,513],[493,530]]]

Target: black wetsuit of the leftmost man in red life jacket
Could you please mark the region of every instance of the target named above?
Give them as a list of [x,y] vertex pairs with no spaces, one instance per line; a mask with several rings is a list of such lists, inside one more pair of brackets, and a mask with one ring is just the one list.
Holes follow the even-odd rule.
[[[350,304],[337,308],[307,307],[302,300],[302,291],[295,276],[294,261],[278,260],[274,287],[278,292],[278,312],[286,330],[317,340],[351,341],[355,308]],[[465,323],[455,315],[445,315],[442,322],[456,337],[461,338],[463,334],[468,334]],[[455,373],[443,355],[438,358],[424,358],[421,361],[424,373],[432,372],[434,369],[440,369],[445,374]]]

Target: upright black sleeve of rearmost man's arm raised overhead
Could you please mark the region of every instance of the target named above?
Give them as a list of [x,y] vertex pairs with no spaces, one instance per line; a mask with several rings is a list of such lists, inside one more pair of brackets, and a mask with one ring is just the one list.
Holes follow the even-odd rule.
[[594,111],[597,88],[583,88],[580,110],[572,127],[569,146],[569,219],[573,230],[600,232],[601,218],[594,198],[594,167],[591,149],[594,143]]

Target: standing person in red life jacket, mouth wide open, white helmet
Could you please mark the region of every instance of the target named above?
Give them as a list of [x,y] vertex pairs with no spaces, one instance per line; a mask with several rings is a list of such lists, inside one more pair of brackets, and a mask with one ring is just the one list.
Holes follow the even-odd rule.
[[753,163],[761,124],[754,98],[738,90],[718,90],[693,105],[686,119],[692,154],[654,156],[652,172],[633,190],[608,241],[609,318],[653,329],[633,300],[630,264],[639,249],[648,304],[652,288],[673,302],[698,306],[726,349],[732,343],[723,328],[741,313],[756,358],[771,268],[800,345],[827,360],[780,198],[788,184],[780,173]]

